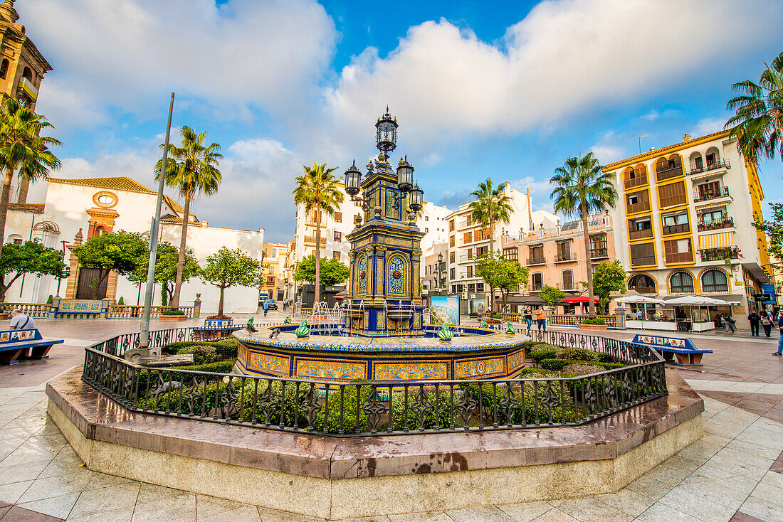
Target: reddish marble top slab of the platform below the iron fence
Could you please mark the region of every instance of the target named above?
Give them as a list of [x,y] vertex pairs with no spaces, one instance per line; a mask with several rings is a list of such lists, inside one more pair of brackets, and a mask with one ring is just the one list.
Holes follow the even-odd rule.
[[456,434],[323,437],[129,412],[73,369],[46,386],[87,439],[306,477],[347,479],[616,459],[700,416],[704,402],[677,373],[669,395],[579,427]]

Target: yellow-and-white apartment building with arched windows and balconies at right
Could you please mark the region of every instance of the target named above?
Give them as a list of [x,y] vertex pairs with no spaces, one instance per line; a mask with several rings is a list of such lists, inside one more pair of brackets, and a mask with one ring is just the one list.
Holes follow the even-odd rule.
[[770,282],[770,256],[763,232],[752,226],[762,217],[759,176],[729,131],[686,134],[604,171],[615,175],[620,195],[615,248],[628,288],[739,301],[734,318],[746,326],[757,307],[752,296]]

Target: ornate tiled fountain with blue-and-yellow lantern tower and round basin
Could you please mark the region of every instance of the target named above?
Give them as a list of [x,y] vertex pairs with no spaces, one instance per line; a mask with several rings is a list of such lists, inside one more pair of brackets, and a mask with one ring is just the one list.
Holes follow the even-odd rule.
[[[240,341],[236,370],[330,382],[514,376],[525,366],[529,337],[425,322],[430,314],[425,314],[419,276],[424,232],[415,214],[423,191],[406,158],[400,158],[396,173],[389,163],[398,124],[388,107],[375,127],[377,158],[364,176],[355,160],[345,171],[345,191],[363,216],[356,215],[355,229],[346,236],[351,273],[341,314],[314,309],[305,325],[233,333]],[[341,317],[344,322],[337,322]],[[280,333],[270,337],[276,329]]]

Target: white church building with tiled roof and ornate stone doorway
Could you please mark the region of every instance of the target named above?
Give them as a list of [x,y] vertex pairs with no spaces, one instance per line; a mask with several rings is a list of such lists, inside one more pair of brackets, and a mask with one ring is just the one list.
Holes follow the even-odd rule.
[[[86,241],[114,230],[142,232],[149,236],[157,192],[128,177],[47,180],[44,203],[13,203],[9,205],[5,227],[6,241],[20,242],[41,239],[47,247],[63,249],[78,241]],[[182,231],[182,206],[165,196],[161,207],[161,241],[179,247]],[[200,265],[220,247],[241,248],[251,257],[261,259],[264,229],[240,230],[209,226],[189,215],[187,246],[193,250]],[[77,239],[78,238],[78,239]],[[88,298],[94,275],[88,268],[79,268],[75,257],[66,251],[65,263],[70,265],[70,277],[63,279],[60,296]],[[26,277],[17,280],[6,292],[7,301],[45,302],[57,293],[57,279],[51,276]],[[139,286],[112,273],[101,293],[114,301],[123,297],[125,304],[143,301]],[[219,291],[201,279],[191,279],[182,286],[180,304],[188,305],[201,294],[201,309],[217,311]],[[160,292],[153,294],[160,303]],[[225,308],[229,312],[254,312],[258,309],[258,288],[231,287],[226,290]]]

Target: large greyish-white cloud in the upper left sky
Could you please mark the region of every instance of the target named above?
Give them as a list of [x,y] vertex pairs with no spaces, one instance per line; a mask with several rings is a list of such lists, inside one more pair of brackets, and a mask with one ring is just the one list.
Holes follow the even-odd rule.
[[[248,103],[292,110],[301,96],[317,94],[337,36],[323,7],[309,0],[220,7],[214,0],[27,0],[16,7],[55,67],[38,104],[51,114],[145,113],[172,90],[237,106],[229,107],[232,116]],[[99,120],[86,113],[70,122]]]

